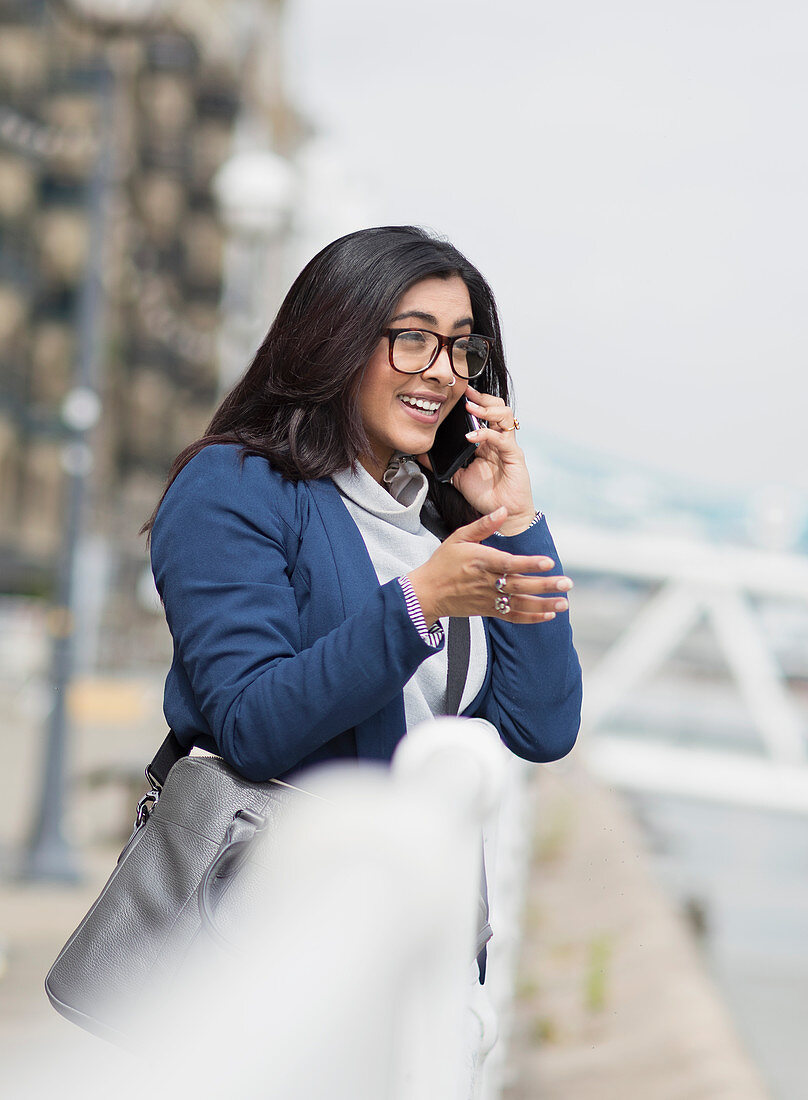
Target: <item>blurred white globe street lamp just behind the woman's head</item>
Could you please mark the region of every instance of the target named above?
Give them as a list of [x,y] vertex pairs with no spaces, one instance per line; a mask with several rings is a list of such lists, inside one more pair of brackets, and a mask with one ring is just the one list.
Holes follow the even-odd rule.
[[243,148],[219,168],[213,193],[228,230],[219,334],[224,391],[246,367],[279,304],[295,173],[270,150]]

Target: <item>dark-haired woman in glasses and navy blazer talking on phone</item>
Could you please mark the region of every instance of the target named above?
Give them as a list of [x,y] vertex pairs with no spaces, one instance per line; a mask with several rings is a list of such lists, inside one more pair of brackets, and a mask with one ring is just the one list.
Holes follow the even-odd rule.
[[[469,334],[474,354],[447,339]],[[442,485],[428,451],[458,402],[485,427]],[[180,743],[256,781],[389,760],[444,710],[452,617],[471,626],[460,713],[528,760],[568,752],[572,582],[514,429],[494,297],[456,249],[411,227],[323,249],[146,525]]]

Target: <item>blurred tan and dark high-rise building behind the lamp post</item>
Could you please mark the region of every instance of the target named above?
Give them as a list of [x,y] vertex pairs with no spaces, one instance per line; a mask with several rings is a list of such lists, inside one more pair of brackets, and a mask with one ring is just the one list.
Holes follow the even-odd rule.
[[[280,3],[258,7],[276,20],[277,38]],[[106,345],[92,532],[111,579],[104,615],[120,623],[133,617],[145,563],[137,531],[219,392],[225,239],[211,183],[256,89],[244,78],[244,35],[213,0],[179,3],[159,30],[114,42],[63,8],[0,0],[0,593],[51,588],[65,508],[62,405],[81,282],[88,264],[99,265]],[[259,38],[273,24],[254,31]],[[279,57],[279,43],[272,47]],[[268,61],[267,132],[288,146],[297,121]],[[104,67],[114,73],[117,183],[104,254],[89,256]]]

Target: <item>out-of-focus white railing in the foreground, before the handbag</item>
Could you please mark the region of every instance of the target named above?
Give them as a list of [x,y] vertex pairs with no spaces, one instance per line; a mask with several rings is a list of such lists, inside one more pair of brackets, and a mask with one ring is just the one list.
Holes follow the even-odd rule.
[[[480,829],[489,823],[490,842],[503,791],[521,790],[511,760],[488,723],[441,718],[405,738],[391,769],[310,773],[322,798],[301,800],[278,836],[248,967],[219,959],[214,986],[206,976],[146,1007],[147,1082],[128,1055],[75,1032],[64,1054],[29,1052],[19,1080],[9,1067],[11,1091],[106,1100],[112,1074],[123,1098],[146,1085],[155,1100],[495,1100],[496,1064],[488,1081],[474,1079],[485,1012],[469,1011],[469,997]],[[522,865],[501,835],[489,859],[495,957],[507,959]],[[498,906],[497,880],[508,879]],[[184,1028],[201,998],[204,1026]]]

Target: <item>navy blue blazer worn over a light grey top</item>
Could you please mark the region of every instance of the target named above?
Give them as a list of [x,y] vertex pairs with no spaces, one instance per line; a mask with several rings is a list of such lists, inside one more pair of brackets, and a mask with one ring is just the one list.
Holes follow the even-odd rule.
[[[487,541],[549,554],[562,572],[544,519]],[[152,568],[174,639],[165,715],[184,745],[256,781],[337,757],[390,759],[406,733],[402,688],[434,650],[398,582],[378,583],[330,479],[296,484],[235,446],[207,447],[161,505]],[[488,671],[464,713],[527,760],[564,756],[582,700],[568,613],[484,623]]]

